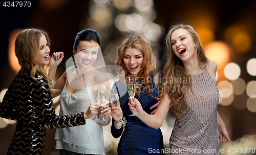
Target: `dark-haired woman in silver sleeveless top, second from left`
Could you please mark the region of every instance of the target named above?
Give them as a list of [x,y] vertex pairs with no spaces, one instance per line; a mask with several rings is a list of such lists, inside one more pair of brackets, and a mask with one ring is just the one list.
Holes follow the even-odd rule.
[[[66,72],[58,79],[54,88],[61,90],[60,93],[60,114],[72,114],[87,109],[96,103],[96,89],[98,84],[110,83],[108,77],[99,72],[97,68],[104,66],[103,56],[100,51],[100,40],[96,31],[83,30],[77,33],[73,53],[75,54],[66,62]],[[58,59],[59,55],[55,58]],[[97,67],[97,68],[96,68]],[[56,67],[49,73],[54,76]],[[56,96],[55,95],[55,96]],[[99,119],[105,115],[110,121],[110,107],[100,107]],[[60,154],[105,154],[102,125],[93,119],[88,119],[83,127],[73,129],[56,130],[56,149]]]

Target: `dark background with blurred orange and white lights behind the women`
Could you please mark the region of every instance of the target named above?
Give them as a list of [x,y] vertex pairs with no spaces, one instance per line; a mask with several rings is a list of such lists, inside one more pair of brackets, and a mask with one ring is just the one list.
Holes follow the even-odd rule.
[[[217,86],[220,92],[218,111],[232,142],[220,143],[223,154],[253,154],[239,148],[256,147],[256,1],[153,1],[153,0],[44,0],[33,8],[9,14],[1,8],[1,76],[0,101],[19,65],[14,54],[16,35],[25,28],[46,30],[51,52],[63,51],[56,79],[65,71],[65,61],[73,55],[77,32],[94,29],[100,35],[106,64],[114,64],[120,42],[130,34],[139,34],[152,46],[157,56],[157,73],[161,79],[166,52],[164,37],[169,27],[184,23],[195,27],[206,55],[218,64]],[[3,5],[3,4],[1,4]],[[157,85],[161,81],[157,81]],[[59,97],[54,99],[56,113]],[[169,113],[161,127],[165,147],[174,126]],[[0,154],[6,154],[16,122],[0,118]],[[106,154],[117,154],[119,139],[110,126],[103,127]],[[79,133],[78,133],[79,134]],[[43,154],[58,154],[55,130],[47,129]],[[237,148],[239,152],[227,152]],[[255,154],[255,153],[254,153]]]

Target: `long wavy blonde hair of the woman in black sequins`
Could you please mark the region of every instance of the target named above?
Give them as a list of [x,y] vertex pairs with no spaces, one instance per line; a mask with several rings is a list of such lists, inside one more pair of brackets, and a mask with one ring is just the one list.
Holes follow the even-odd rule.
[[[47,75],[45,65],[35,63],[35,60],[39,55],[39,41],[42,35],[45,35],[48,46],[50,47],[50,39],[47,32],[38,29],[25,29],[21,31],[15,40],[15,55],[22,70],[30,71],[30,76],[33,79],[38,80],[45,77],[49,82],[52,81],[52,79]],[[49,59],[48,65],[48,69],[50,69],[51,58]],[[36,78],[36,73],[39,73],[42,76]],[[49,86],[51,93],[56,92],[56,90],[53,89],[54,82],[53,84],[49,84]]]

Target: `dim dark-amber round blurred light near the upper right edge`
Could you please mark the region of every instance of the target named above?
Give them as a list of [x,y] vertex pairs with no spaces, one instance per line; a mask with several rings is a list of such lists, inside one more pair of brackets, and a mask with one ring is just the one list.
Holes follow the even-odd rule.
[[248,52],[252,47],[251,37],[246,33],[235,34],[231,41],[238,52]]

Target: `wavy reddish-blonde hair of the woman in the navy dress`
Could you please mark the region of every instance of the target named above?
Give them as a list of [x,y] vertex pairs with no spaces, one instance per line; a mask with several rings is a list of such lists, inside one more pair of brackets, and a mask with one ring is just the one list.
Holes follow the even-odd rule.
[[[124,71],[125,77],[131,75],[131,73],[129,73],[128,69],[125,67],[123,63],[124,52],[127,48],[135,48],[142,52],[143,61],[141,64],[141,70],[139,72],[139,76],[141,79],[143,79],[143,82],[144,82],[144,87],[142,91],[144,93],[144,90],[146,90],[147,95],[152,96],[153,90],[150,85],[153,79],[150,78],[150,73],[156,72],[156,58],[148,42],[141,36],[130,35],[122,41],[121,45],[117,50],[116,65],[118,65],[120,68],[116,69],[116,77],[122,75],[120,73],[122,69]],[[125,78],[120,78],[120,79],[125,79]],[[136,86],[136,95],[140,97],[139,86]]]

